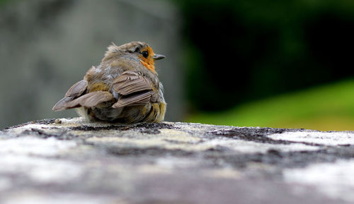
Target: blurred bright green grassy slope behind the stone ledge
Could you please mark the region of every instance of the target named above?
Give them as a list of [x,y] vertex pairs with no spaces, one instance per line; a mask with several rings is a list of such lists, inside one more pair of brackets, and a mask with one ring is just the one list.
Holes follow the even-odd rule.
[[354,131],[354,80],[241,104],[227,112],[194,114],[188,121],[232,126]]

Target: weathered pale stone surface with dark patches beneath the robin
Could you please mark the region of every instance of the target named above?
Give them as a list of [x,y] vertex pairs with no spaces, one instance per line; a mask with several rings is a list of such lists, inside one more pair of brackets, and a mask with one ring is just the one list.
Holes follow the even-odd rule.
[[353,132],[46,119],[0,154],[0,203],[354,203]]

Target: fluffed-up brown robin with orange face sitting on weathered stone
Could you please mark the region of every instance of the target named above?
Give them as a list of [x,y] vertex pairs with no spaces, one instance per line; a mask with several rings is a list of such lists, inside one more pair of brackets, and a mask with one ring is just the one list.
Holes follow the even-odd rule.
[[164,88],[154,63],[164,58],[145,42],[113,43],[101,64],[92,66],[83,80],[72,85],[53,110],[77,108],[78,114],[90,121],[163,121]]

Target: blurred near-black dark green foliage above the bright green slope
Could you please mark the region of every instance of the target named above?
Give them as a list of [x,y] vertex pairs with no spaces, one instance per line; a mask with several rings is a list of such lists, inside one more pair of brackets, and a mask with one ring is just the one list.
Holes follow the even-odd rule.
[[217,111],[353,76],[354,1],[186,1],[186,92]]

